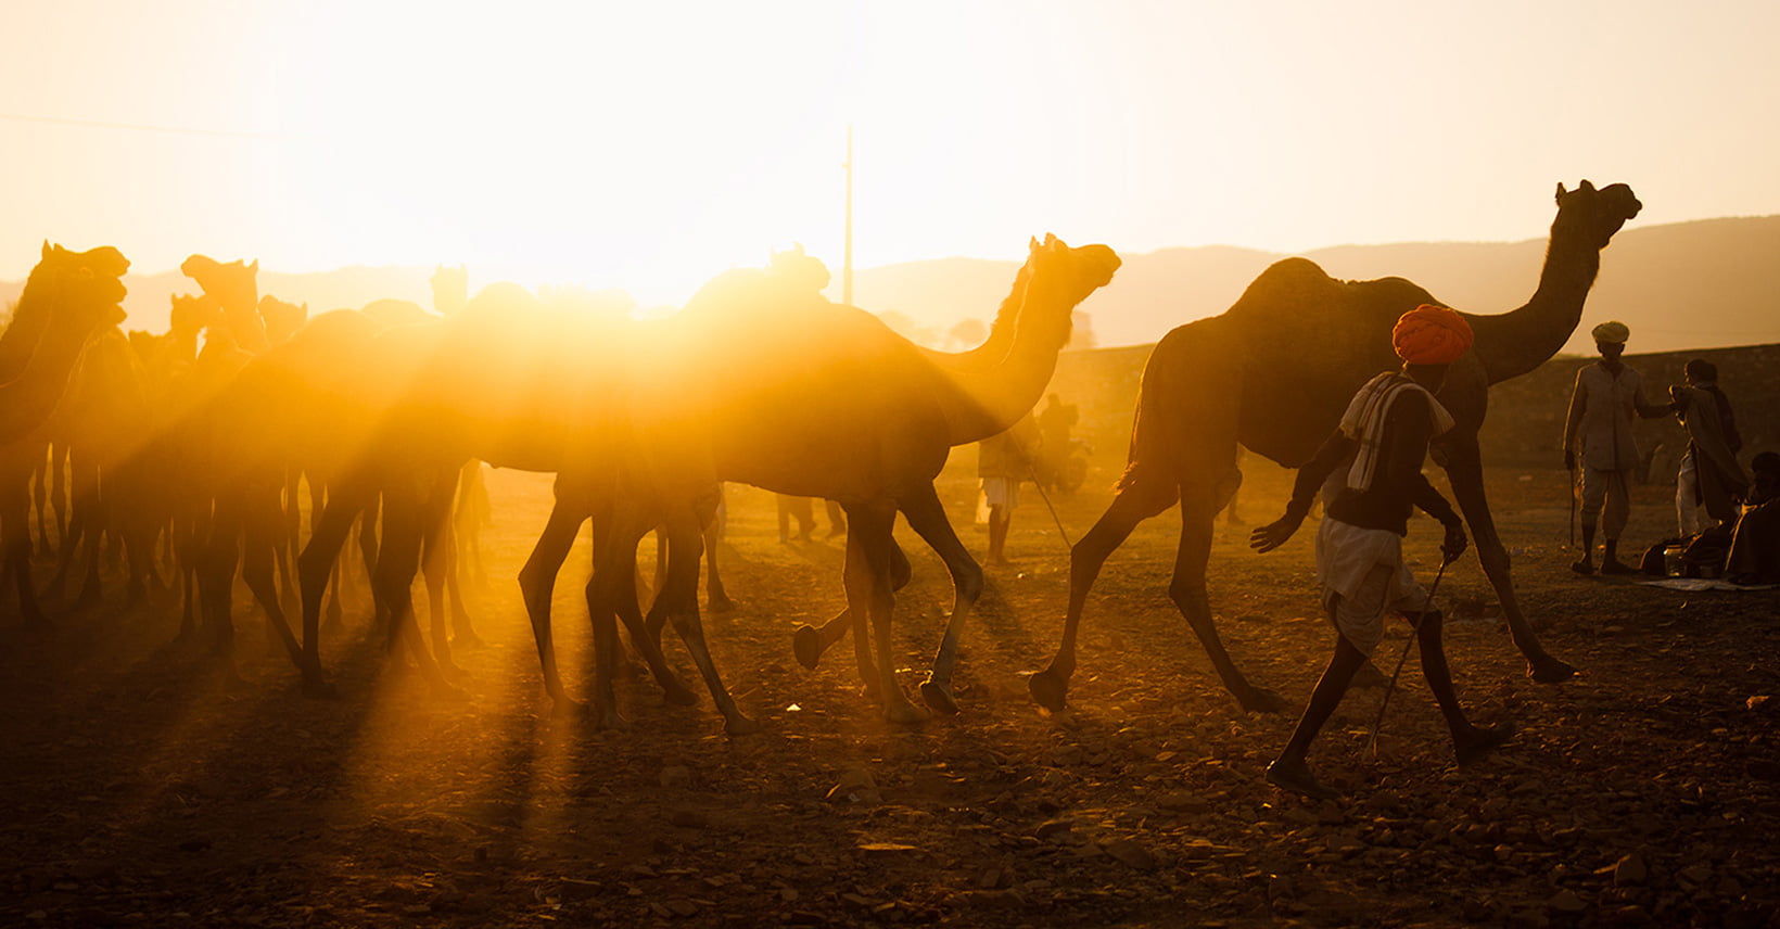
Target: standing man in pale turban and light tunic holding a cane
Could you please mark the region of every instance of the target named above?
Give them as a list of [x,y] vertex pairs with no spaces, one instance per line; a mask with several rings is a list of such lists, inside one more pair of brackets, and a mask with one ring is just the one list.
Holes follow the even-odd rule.
[[1582,445],[1582,557],[1570,566],[1579,575],[1595,573],[1595,520],[1606,536],[1600,555],[1600,573],[1638,573],[1620,561],[1620,534],[1632,514],[1632,468],[1638,466],[1638,441],[1632,438],[1632,420],[1654,420],[1670,411],[1645,400],[1643,377],[1625,367],[1625,340],[1632,331],[1623,322],[1595,326],[1595,349],[1600,361],[1575,372],[1575,390],[1570,392],[1570,415],[1563,425],[1563,466],[1575,472],[1577,441]]

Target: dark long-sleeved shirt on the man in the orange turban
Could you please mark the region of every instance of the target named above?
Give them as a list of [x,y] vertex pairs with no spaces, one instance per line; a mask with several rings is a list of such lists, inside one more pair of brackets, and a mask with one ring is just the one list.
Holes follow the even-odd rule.
[[[1410,513],[1415,507],[1444,525],[1458,521],[1452,504],[1447,504],[1447,498],[1422,475],[1429,438],[1433,438],[1433,424],[1429,422],[1428,395],[1417,390],[1397,397],[1385,413],[1385,432],[1372,486],[1367,489],[1342,486],[1335,500],[1330,502],[1328,514],[1347,525],[1388,529],[1397,536],[1410,534]],[[1349,438],[1340,429],[1324,440],[1317,454],[1298,470],[1298,481],[1292,482],[1292,502],[1287,504],[1285,513],[1303,520],[1310,513],[1317,488],[1358,447],[1358,440]]]

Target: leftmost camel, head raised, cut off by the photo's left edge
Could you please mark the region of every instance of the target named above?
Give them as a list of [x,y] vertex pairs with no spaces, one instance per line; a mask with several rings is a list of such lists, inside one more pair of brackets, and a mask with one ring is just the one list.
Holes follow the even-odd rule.
[[44,461],[46,422],[87,342],[123,319],[128,271],[110,246],[77,253],[44,242],[0,333],[0,570],[11,571],[30,623],[44,619],[30,577],[30,473]]

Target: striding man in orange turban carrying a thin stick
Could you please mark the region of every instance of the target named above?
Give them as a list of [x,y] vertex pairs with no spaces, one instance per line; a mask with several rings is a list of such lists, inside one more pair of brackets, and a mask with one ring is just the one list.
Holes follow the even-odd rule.
[[1465,719],[1440,644],[1440,610],[1403,561],[1403,536],[1415,509],[1445,525],[1440,552],[1447,562],[1465,552],[1465,525],[1422,475],[1422,459],[1428,441],[1452,427],[1435,392],[1445,381],[1447,365],[1470,351],[1470,324],[1445,306],[1422,304],[1403,313],[1390,333],[1403,370],[1380,374],[1355,393],[1340,427],[1299,468],[1285,516],[1250,537],[1257,552],[1278,548],[1310,513],[1317,488],[1353,457],[1317,532],[1317,582],[1323,584],[1323,609],[1337,632],[1335,655],[1285,749],[1267,765],[1267,781],[1276,787],[1319,799],[1335,796],[1317,783],[1305,758],[1355,671],[1385,637],[1385,612],[1415,625],[1422,676],[1440,703],[1460,763],[1481,758],[1513,733],[1509,724],[1474,726]]

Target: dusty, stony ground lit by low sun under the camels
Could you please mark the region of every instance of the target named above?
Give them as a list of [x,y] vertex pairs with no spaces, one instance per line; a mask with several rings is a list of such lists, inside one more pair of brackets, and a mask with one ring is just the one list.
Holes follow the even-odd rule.
[[[1287,475],[1250,472],[1241,511],[1262,521]],[[1365,751],[1380,692],[1355,692],[1312,755],[1349,799],[1308,804],[1260,780],[1294,719],[1239,712],[1166,598],[1173,514],[1107,564],[1075,708],[1047,719],[1022,675],[1056,648],[1066,548],[1029,495],[1016,564],[991,571],[965,639],[963,714],[906,730],[862,701],[847,648],[813,673],[790,657],[792,626],[842,603],[838,541],[780,545],[771,497],[733,489],[740,610],[707,625],[765,731],[732,740],[708,701],[666,707],[646,680],[621,691],[630,731],[550,717],[511,580],[548,484],[495,473],[495,584],[473,596],[488,646],[459,657],[465,701],[390,671],[363,621],[328,642],[329,701],[299,696],[256,618],[240,619],[239,687],[155,657],[173,610],[0,625],[0,924],[1771,924],[1780,701],[1764,699],[1780,691],[1780,593],[1575,578],[1563,475],[1493,481],[1522,600],[1586,676],[1524,678],[1467,559],[1440,587],[1449,651],[1476,715],[1518,724],[1513,744],[1458,771],[1412,662],[1381,756]],[[963,472],[942,491],[981,552]],[[1671,521],[1668,493],[1639,489],[1636,539]],[[1105,500],[1057,500],[1072,537]],[[1330,648],[1314,532],[1266,557],[1246,529],[1219,532],[1223,634],[1301,705]],[[1412,529],[1428,564],[1436,539]],[[951,593],[910,550],[899,642],[913,687]],[[586,692],[573,564],[557,630]],[[691,678],[678,646],[669,657]],[[860,772],[872,788],[826,799]]]

